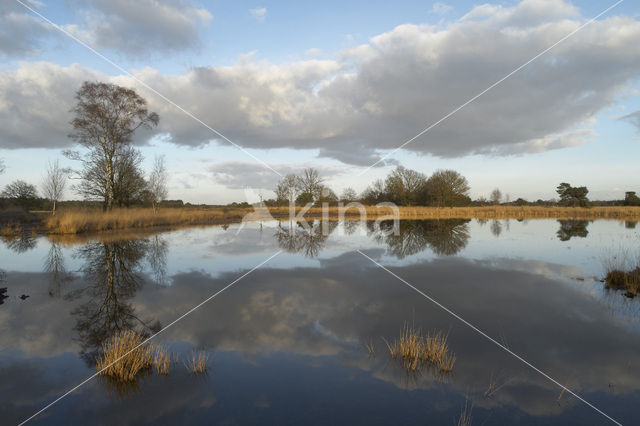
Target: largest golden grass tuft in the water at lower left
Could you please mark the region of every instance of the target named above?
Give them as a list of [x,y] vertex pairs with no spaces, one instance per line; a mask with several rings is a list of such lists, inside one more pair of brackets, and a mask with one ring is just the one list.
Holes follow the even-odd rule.
[[140,345],[142,341],[143,337],[135,331],[114,335],[103,345],[102,356],[96,359],[96,369],[116,380],[134,380],[140,371],[150,368],[153,361],[153,347]]

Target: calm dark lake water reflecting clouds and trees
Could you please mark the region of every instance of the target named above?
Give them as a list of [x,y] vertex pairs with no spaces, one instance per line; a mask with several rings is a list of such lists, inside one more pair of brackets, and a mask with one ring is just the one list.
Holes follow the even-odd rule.
[[[385,236],[358,222],[293,234],[255,223],[5,240],[0,420],[18,424],[94,374],[113,333],[162,330],[282,251],[154,338],[180,359],[207,351],[207,374],[178,361],[128,386],[97,377],[31,423],[455,425],[465,404],[477,425],[611,423],[362,250],[607,415],[640,424],[640,300],[599,281],[605,257],[638,255],[634,225],[405,221]],[[383,338],[405,323],[449,334],[451,374],[407,374],[390,359]]]

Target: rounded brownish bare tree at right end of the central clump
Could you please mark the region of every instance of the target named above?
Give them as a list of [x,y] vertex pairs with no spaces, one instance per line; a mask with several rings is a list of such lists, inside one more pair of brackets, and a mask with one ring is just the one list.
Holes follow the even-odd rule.
[[428,203],[438,207],[469,204],[469,189],[467,178],[455,170],[437,170],[425,185]]

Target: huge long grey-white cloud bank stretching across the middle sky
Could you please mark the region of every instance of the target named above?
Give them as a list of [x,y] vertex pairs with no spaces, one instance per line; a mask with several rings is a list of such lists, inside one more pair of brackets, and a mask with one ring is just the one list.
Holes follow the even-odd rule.
[[[272,64],[251,55],[230,66],[167,75],[145,68],[136,77],[248,148],[314,149],[350,164],[379,158],[438,121],[507,73],[584,23],[569,3],[524,0],[479,6],[446,26],[400,25],[345,50],[337,59]],[[3,137],[3,147],[60,146],[68,122],[53,112],[30,114],[32,91],[55,99],[58,110],[79,67],[22,64],[0,76],[0,125],[30,138]],[[74,71],[75,70],[75,71]],[[85,73],[93,73],[84,70]],[[21,73],[37,75],[24,92],[7,91]],[[53,75],[53,78],[51,77]],[[457,157],[511,155],[567,148],[593,136],[596,114],[640,77],[640,22],[617,16],[595,22],[406,146],[419,154]],[[55,81],[59,80],[59,84]],[[126,76],[111,81],[136,87]],[[66,85],[65,85],[66,84]],[[179,145],[217,136],[139,87],[160,114],[158,132]],[[9,96],[11,94],[11,96]],[[32,103],[33,104],[33,103]],[[30,105],[32,105],[30,104]],[[23,115],[11,114],[12,109]],[[40,132],[29,129],[34,120]],[[14,132],[15,133],[15,132]],[[38,137],[39,135],[39,137]],[[46,136],[46,137],[45,137]],[[16,140],[21,142],[16,142]]]

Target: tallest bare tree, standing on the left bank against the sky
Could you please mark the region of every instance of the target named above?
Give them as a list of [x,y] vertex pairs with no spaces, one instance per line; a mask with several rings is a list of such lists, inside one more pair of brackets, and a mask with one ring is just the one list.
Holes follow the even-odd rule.
[[[117,161],[123,148],[130,146],[135,131],[151,128],[159,121],[158,114],[147,111],[147,101],[135,90],[115,84],[85,81],[76,93],[76,106],[71,110],[73,133],[69,136],[89,149],[85,171],[103,168],[99,173],[85,173],[85,179],[97,179],[94,185],[103,186],[104,207],[113,208]],[[68,154],[78,159],[78,153]]]

